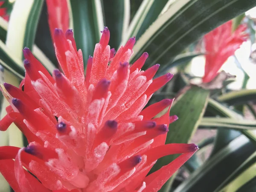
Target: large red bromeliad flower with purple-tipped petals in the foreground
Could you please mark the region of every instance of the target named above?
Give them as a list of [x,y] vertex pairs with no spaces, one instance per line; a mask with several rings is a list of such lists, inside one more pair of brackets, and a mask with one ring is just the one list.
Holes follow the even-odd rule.
[[[29,142],[25,148],[0,147],[0,172],[15,191],[157,191],[198,150],[195,144],[164,145],[177,116],[168,111],[154,117],[170,110],[174,99],[143,109],[173,75],[152,80],[159,64],[141,70],[146,52],[128,64],[135,38],[116,54],[109,38],[105,27],[85,77],[72,30],[54,33],[63,73],[54,70],[51,76],[28,48],[23,49],[26,76],[20,88],[2,85],[10,106],[0,128],[5,131],[14,122]],[[169,154],[181,155],[147,176],[156,160]]]

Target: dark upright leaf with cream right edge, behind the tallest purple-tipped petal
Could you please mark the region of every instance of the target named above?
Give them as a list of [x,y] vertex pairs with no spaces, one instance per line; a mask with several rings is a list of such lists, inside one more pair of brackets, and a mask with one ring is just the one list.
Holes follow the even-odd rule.
[[111,32],[110,47],[118,48],[130,22],[129,0],[103,1],[105,25]]

